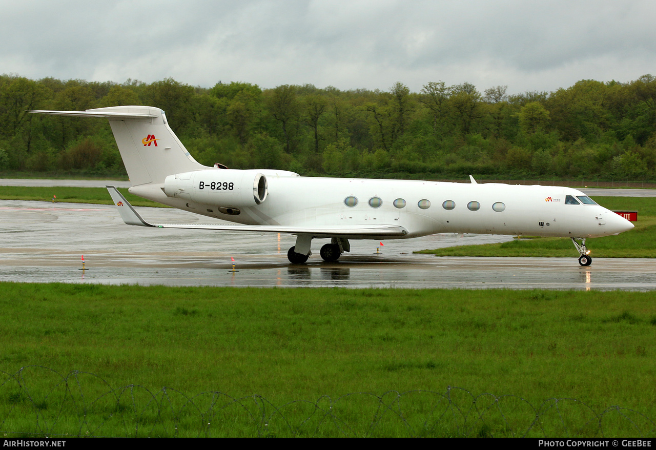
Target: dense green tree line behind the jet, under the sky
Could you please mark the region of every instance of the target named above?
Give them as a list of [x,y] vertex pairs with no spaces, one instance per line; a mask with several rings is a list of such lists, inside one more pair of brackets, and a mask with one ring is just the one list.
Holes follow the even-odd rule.
[[0,171],[125,174],[105,120],[27,110],[144,104],[167,113],[195,159],[303,175],[656,179],[656,77],[581,80],[554,92],[411,92],[171,78],[142,83],[0,75]]

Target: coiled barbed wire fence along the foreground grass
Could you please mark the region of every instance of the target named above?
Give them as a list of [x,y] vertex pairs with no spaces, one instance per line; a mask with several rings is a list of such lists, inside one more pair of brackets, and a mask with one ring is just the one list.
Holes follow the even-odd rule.
[[275,405],[259,395],[189,396],[137,384],[112,388],[93,373],[62,375],[36,365],[0,375],[0,433],[8,438],[656,436],[656,423],[633,409],[596,411],[571,398],[533,405],[519,396],[477,395],[451,386],[443,392],[356,392]]

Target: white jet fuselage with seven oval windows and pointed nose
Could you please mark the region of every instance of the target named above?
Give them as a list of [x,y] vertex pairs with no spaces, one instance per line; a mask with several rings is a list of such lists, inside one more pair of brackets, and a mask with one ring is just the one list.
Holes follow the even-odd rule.
[[[239,215],[220,213],[219,207],[233,205],[222,204],[218,199],[197,203],[171,198],[152,185],[133,186],[130,191],[193,213],[241,224],[306,228],[397,225],[408,231],[397,237],[403,239],[447,232],[600,237],[632,228],[624,218],[600,205],[581,201],[566,204],[567,195],[585,195],[572,188],[272,174],[266,178],[266,200],[260,205],[241,207]],[[198,191],[200,187],[208,189],[198,183],[193,189]],[[377,239],[366,237],[372,238]]]

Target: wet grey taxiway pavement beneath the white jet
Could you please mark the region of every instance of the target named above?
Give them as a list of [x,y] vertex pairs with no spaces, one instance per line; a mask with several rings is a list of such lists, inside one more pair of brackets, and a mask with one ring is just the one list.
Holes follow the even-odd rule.
[[[207,217],[138,208],[153,222],[203,222]],[[216,220],[215,222],[220,222]],[[0,281],[62,281],[140,285],[411,287],[462,289],[656,289],[656,263],[595,258],[582,268],[571,258],[457,258],[413,251],[502,242],[510,236],[432,235],[352,241],[351,253],[323,262],[313,241],[308,264],[287,261],[295,237],[286,234],[142,228],[123,224],[115,207],[0,201]],[[590,248],[594,255],[594,240]],[[82,267],[81,256],[85,258]],[[237,272],[232,270],[236,261]]]

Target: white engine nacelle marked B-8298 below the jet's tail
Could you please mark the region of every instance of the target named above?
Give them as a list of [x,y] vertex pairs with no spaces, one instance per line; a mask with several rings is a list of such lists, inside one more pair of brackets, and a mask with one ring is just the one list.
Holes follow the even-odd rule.
[[208,169],[169,175],[164,194],[217,207],[250,207],[266,200],[266,176],[256,170]]

